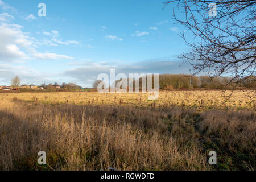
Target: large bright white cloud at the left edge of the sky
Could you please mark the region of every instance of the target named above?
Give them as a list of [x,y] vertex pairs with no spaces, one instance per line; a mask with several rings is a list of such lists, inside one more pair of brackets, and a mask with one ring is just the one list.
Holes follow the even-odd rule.
[[[18,24],[0,24],[0,61],[9,61],[14,63],[27,59],[73,59],[73,57],[58,55],[56,53],[38,53],[35,48],[40,44],[50,44],[51,46],[57,46],[57,44],[54,44],[48,39],[42,39],[39,42],[35,38],[28,36],[27,32],[23,32],[22,28],[23,27]],[[78,44],[78,42],[73,40],[68,41],[67,43]]]

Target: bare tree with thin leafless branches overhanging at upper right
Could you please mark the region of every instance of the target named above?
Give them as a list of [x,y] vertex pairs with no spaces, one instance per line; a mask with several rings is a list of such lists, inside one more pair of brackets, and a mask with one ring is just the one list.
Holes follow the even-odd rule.
[[[174,5],[174,19],[194,36],[191,41],[180,33],[191,47],[181,58],[192,64],[195,74],[207,72],[210,78],[230,75],[233,78],[228,84],[234,85],[255,75],[255,0],[164,3]],[[176,7],[183,16],[176,14]]]

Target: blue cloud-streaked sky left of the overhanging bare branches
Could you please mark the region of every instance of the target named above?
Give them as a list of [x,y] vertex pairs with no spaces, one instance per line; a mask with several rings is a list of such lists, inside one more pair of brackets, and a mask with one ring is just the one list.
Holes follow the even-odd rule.
[[[74,82],[92,86],[122,73],[189,73],[188,52],[163,1],[0,0],[0,85]],[[46,17],[38,4],[46,4]],[[178,14],[179,15],[179,14]]]

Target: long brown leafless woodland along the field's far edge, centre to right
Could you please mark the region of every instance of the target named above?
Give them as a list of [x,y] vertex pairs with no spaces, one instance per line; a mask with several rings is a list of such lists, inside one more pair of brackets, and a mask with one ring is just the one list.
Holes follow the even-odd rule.
[[[233,90],[236,89],[256,89],[256,76],[247,76],[242,81],[237,80],[237,82],[230,83],[230,80],[235,80],[234,77],[209,77],[209,76],[193,76],[184,74],[162,74],[159,75],[159,88],[163,90],[172,89],[218,89],[218,90]],[[147,80],[147,77],[146,77]],[[118,82],[122,80],[117,80],[112,86],[117,85]],[[142,78],[134,80],[133,82],[128,82],[127,86],[132,86],[135,88],[135,81],[139,81],[139,87],[142,87]],[[100,84],[100,80],[96,80],[93,84],[93,88],[97,88]],[[146,81],[147,82],[147,81]],[[154,76],[152,76],[152,88],[154,88]]]

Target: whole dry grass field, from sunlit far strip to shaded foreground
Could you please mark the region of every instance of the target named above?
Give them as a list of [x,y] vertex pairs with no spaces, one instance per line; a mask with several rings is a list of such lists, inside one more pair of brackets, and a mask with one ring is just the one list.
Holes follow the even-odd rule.
[[0,170],[255,170],[255,92],[229,94],[0,93]]

